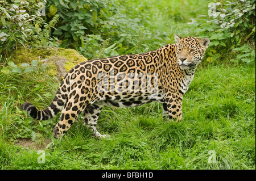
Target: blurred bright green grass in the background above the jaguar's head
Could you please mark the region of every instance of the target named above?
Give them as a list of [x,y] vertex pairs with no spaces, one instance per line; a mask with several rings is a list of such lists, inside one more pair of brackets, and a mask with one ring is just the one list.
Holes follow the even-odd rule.
[[[117,1],[119,2],[119,1]],[[168,34],[177,33],[180,36],[188,36],[183,28],[187,22],[199,15],[205,15],[208,12],[208,3],[201,0],[187,1],[168,1],[168,0],[125,0],[121,1],[122,12],[128,18],[141,18],[144,26],[151,29],[161,30]],[[140,14],[134,14],[134,11]],[[170,37],[174,39],[174,37]]]

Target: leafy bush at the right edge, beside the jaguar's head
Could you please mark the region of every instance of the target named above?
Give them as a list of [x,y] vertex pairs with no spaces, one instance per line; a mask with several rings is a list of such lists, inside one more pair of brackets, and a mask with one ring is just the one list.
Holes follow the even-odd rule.
[[208,15],[189,23],[211,40],[207,62],[222,60],[230,53],[233,62],[255,61],[255,0],[211,2]]

